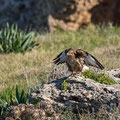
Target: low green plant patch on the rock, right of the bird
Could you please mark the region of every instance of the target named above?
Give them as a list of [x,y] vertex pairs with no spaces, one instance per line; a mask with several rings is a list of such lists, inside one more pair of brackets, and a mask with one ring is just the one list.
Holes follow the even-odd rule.
[[99,82],[99,83],[102,83],[102,84],[106,84],[106,85],[116,84],[116,81],[113,80],[112,78],[110,78],[105,73],[97,73],[97,72],[93,72],[93,71],[86,71],[86,72],[83,72],[82,75],[85,78],[93,79],[96,82]]

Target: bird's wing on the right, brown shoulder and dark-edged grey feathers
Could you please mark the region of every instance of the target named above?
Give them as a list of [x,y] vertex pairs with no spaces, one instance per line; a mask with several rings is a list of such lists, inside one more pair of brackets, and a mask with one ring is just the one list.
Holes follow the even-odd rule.
[[84,50],[76,50],[76,57],[83,58],[86,65],[97,67],[101,70],[104,69],[103,65],[93,55]]

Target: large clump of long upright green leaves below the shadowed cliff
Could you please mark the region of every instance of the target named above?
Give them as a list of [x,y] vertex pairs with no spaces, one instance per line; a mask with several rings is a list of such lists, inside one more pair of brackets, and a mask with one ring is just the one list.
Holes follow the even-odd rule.
[[4,53],[25,52],[35,47],[33,41],[34,32],[20,31],[17,25],[7,24],[6,28],[0,31],[0,51]]

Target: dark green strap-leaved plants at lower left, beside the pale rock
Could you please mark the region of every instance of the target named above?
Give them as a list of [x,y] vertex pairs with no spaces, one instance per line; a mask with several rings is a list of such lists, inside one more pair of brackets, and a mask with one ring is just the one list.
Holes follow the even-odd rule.
[[[19,104],[37,104],[40,102],[40,99],[37,98],[34,101],[31,101],[30,94],[32,92],[32,88],[25,92],[24,90],[20,90],[18,86],[16,89],[8,89],[9,94],[6,96],[0,96],[0,115],[4,115],[8,111],[9,106],[17,106]],[[15,92],[15,94],[14,94]]]

